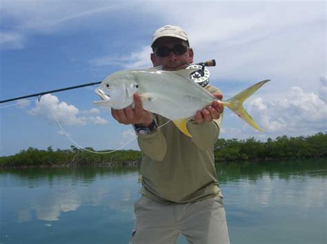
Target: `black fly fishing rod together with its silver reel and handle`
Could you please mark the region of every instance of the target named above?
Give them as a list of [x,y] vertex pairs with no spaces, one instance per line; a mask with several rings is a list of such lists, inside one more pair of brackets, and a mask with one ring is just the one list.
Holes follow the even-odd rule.
[[[190,65],[186,69],[188,69],[188,68],[199,68],[198,71],[195,71],[193,74],[191,74],[190,78],[192,80],[194,80],[195,82],[197,82],[202,87],[205,87],[209,82],[209,71],[208,71],[208,69],[206,67],[210,67],[210,66],[216,66],[215,59],[206,61],[204,63],[197,63],[195,65]],[[98,85],[101,82],[102,81],[92,82],[92,83],[83,84],[83,85],[77,85],[77,86],[74,86],[74,87],[61,88],[61,89],[52,90],[52,91],[43,91],[43,92],[40,92],[40,93],[34,93],[34,94],[31,94],[31,95],[21,96],[21,97],[18,97],[18,98],[10,98],[10,99],[7,99],[7,100],[0,100],[0,103],[12,102],[12,101],[23,99],[23,98],[32,98],[32,97],[37,97],[37,96],[40,97],[40,96],[46,95],[48,93],[55,93],[55,92],[59,92],[59,91],[67,91],[67,90],[77,89],[77,88],[81,88],[81,87],[90,87],[92,85]]]

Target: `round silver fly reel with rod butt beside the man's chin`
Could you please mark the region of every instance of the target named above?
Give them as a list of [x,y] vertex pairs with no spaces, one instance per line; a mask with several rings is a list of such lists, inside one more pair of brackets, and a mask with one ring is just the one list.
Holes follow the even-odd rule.
[[198,69],[197,71],[190,74],[190,78],[201,85],[201,87],[206,87],[209,83],[210,72],[207,68],[208,66],[215,66],[216,61],[214,59],[207,61],[205,63],[196,63],[194,65],[190,65],[186,67],[186,69]]

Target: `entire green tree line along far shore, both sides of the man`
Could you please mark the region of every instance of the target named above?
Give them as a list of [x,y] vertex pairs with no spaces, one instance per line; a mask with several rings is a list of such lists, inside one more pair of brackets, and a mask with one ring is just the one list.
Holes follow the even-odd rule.
[[[87,148],[94,151],[93,148]],[[218,139],[215,143],[216,163],[257,161],[268,159],[304,159],[327,157],[327,134],[317,133],[307,137],[268,138],[266,142],[250,137],[246,140]],[[28,148],[15,155],[0,157],[0,167],[28,166],[139,166],[141,152],[133,150],[95,154],[70,146],[54,151]]]

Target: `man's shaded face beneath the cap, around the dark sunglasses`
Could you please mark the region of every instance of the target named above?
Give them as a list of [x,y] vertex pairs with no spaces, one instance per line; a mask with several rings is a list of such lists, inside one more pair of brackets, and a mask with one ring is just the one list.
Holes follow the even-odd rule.
[[[155,49],[160,47],[173,48],[178,44],[186,45],[186,42],[178,38],[162,37],[156,41]],[[162,65],[163,69],[168,71],[184,69],[190,63],[193,63],[193,50],[188,48],[187,52],[181,55],[174,54],[174,52],[170,51],[169,55],[166,57],[151,54],[151,61],[153,66]]]

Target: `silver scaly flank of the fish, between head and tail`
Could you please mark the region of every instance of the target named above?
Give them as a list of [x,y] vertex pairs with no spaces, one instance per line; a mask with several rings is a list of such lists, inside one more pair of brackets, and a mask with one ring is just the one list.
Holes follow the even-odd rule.
[[143,109],[170,120],[192,117],[215,99],[206,89],[188,78],[189,72],[134,71],[132,74],[139,84],[137,93],[141,94]]

